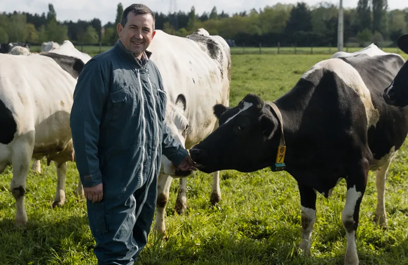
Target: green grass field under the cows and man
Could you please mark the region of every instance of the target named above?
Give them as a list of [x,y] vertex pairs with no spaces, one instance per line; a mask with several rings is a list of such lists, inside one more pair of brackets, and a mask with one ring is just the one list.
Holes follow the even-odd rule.
[[[297,82],[304,71],[329,55],[233,55],[231,105],[247,93],[274,100]],[[356,234],[360,264],[408,263],[408,147],[391,165],[386,192],[389,226],[373,222],[375,177],[370,172]],[[94,241],[87,224],[85,199],[73,192],[77,172],[69,164],[67,202],[52,209],[56,170],[29,173],[25,207],[29,226],[14,229],[15,201],[9,191],[11,168],[0,175],[0,260],[2,264],[96,264]],[[311,256],[297,256],[300,242],[300,198],[295,180],[269,169],[254,173],[221,172],[222,201],[210,204],[211,175],[188,180],[187,215],[174,212],[178,182],[173,181],[167,207],[167,241],[150,233],[138,264],[343,264],[346,237],[341,221],[346,187],[342,180],[325,199],[318,195]]]

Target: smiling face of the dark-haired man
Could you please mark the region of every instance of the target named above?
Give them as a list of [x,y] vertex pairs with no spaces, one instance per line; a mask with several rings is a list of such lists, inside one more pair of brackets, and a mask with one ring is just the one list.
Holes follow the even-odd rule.
[[156,34],[153,17],[150,14],[135,15],[130,12],[125,26],[118,24],[118,33],[123,46],[140,59]]

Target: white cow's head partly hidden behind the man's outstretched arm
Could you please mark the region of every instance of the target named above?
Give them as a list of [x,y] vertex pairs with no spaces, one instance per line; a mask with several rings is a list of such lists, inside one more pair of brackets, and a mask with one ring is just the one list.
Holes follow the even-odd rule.
[[[184,115],[185,110],[186,98],[183,94],[180,94],[177,97],[175,104],[169,101],[166,106],[167,127],[169,128],[174,140],[182,144],[183,147],[185,147],[187,130],[189,127],[188,120]],[[160,173],[170,175],[173,178],[177,178],[187,177],[191,174],[191,171],[178,170],[165,155],[162,155],[162,166],[160,169]]]

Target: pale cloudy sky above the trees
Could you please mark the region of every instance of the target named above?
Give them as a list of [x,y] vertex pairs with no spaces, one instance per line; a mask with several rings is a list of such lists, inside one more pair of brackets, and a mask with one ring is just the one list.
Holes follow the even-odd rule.
[[[213,7],[217,8],[218,13],[223,10],[225,13],[233,14],[243,11],[249,11],[252,8],[257,10],[263,9],[265,6],[273,6],[277,3],[296,4],[300,0],[139,0],[139,2],[122,0],[0,0],[0,12],[29,12],[46,14],[48,12],[48,4],[54,5],[57,13],[57,20],[92,20],[99,18],[102,25],[107,22],[115,21],[116,8],[118,3],[122,3],[123,9],[134,3],[145,4],[152,11],[162,12],[167,14],[170,11],[172,1],[176,1],[176,10],[190,11],[194,6],[196,14],[201,15],[203,12],[211,12]],[[309,6],[317,5],[323,0],[303,0]],[[326,0],[325,2],[338,5],[339,0]],[[358,0],[343,0],[343,7],[355,8]],[[249,4],[251,3],[251,4]],[[388,0],[389,10],[408,8],[406,0]],[[173,6],[174,8],[174,6]],[[172,9],[173,9],[172,8]]]

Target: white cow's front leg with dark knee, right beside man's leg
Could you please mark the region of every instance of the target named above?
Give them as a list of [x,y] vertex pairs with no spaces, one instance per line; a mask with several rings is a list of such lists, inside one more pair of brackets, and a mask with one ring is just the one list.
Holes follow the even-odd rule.
[[154,229],[159,233],[166,231],[164,217],[166,215],[166,204],[169,199],[171,180],[173,180],[171,176],[159,174],[157,181],[156,222]]

